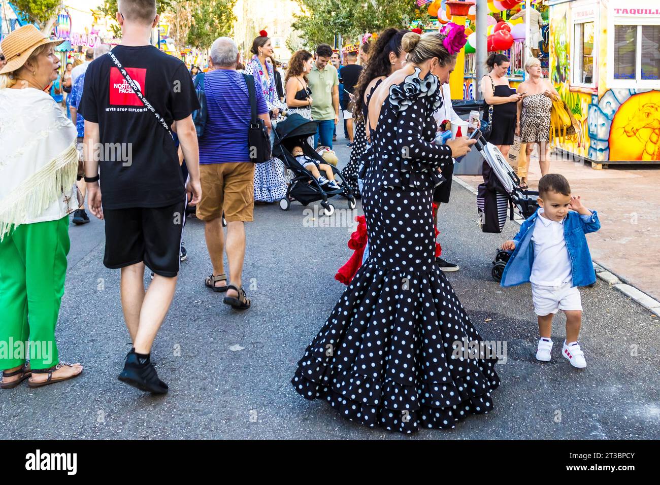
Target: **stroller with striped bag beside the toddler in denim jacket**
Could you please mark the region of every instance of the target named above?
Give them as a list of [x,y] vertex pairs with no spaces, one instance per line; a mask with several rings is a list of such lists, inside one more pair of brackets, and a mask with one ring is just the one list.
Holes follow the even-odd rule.
[[[504,229],[507,211],[513,220],[514,209],[525,219],[539,209],[539,193],[520,188],[520,179],[495,145],[479,137],[475,147],[485,160],[482,170],[484,183],[479,185],[477,191],[479,224],[482,232],[500,234]],[[502,280],[510,256],[510,251],[498,249],[490,272],[494,280]]]

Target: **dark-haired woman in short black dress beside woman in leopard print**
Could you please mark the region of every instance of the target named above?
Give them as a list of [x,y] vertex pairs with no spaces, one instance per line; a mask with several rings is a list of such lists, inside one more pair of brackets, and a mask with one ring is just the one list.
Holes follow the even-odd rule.
[[509,86],[506,73],[509,70],[510,61],[504,54],[490,53],[486,59],[486,67],[490,71],[481,79],[481,92],[484,94],[484,106],[486,117],[490,106],[492,113],[492,131],[488,141],[500,148],[500,152],[506,158],[509,149],[513,145],[515,134],[515,123],[517,117],[517,102],[523,98],[522,94],[515,92]]

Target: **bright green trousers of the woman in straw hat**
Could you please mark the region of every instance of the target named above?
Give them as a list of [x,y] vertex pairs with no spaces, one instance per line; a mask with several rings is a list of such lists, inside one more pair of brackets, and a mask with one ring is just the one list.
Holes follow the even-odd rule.
[[55,325],[64,294],[69,216],[23,224],[0,242],[0,370],[59,363]]

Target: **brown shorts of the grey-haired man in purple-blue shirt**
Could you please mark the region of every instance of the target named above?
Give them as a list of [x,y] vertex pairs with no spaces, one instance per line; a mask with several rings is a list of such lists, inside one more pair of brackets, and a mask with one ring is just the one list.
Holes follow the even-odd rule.
[[232,162],[199,166],[202,199],[197,218],[227,222],[252,222],[254,210],[254,164]]

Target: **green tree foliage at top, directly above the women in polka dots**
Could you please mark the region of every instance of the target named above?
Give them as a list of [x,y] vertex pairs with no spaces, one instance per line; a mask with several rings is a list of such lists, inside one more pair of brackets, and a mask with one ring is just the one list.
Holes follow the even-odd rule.
[[303,11],[292,27],[308,48],[332,44],[336,34],[356,42],[365,32],[380,32],[387,27],[405,28],[428,14],[413,0],[297,0]]

